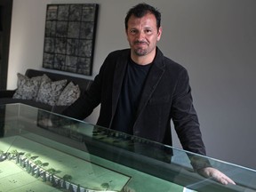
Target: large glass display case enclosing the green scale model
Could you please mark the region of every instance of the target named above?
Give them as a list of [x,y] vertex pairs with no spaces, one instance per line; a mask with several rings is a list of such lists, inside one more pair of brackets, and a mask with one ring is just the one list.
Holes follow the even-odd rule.
[[[191,161],[211,164],[236,185],[202,177]],[[256,171],[9,104],[0,106],[0,191],[251,192]]]

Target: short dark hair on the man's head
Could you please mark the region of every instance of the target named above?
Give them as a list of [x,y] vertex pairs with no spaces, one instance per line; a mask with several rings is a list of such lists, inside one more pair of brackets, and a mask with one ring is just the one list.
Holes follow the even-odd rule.
[[128,20],[132,15],[134,15],[137,18],[141,18],[145,16],[146,14],[152,13],[156,17],[156,28],[157,30],[161,27],[161,12],[159,12],[155,7],[149,5],[149,4],[137,4],[133,6],[126,14],[124,24],[125,24],[125,29],[127,30],[128,28]]

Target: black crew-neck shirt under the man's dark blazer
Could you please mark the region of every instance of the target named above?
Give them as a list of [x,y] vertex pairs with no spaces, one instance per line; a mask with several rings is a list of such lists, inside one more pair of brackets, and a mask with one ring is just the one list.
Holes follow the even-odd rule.
[[136,120],[140,95],[143,90],[151,64],[139,65],[128,61],[122,91],[118,100],[112,129],[132,134],[132,127]]

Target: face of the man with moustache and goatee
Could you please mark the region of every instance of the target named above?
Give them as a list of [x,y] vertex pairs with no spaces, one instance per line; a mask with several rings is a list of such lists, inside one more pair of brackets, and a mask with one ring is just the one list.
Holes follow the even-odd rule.
[[155,56],[156,42],[160,40],[161,34],[162,28],[157,30],[154,14],[148,13],[142,18],[132,15],[128,20],[126,35],[134,56]]

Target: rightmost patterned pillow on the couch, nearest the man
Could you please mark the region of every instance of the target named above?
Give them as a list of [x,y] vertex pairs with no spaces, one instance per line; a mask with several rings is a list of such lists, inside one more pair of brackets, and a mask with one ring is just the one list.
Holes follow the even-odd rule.
[[80,89],[78,84],[73,84],[73,82],[70,82],[63,92],[60,94],[60,98],[57,101],[57,106],[69,106],[72,103],[74,103],[80,96]]

